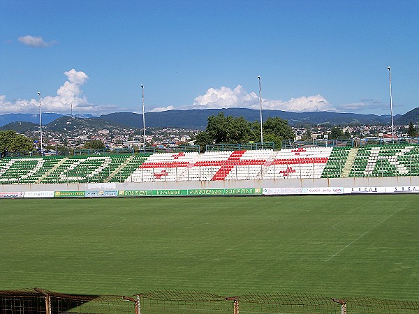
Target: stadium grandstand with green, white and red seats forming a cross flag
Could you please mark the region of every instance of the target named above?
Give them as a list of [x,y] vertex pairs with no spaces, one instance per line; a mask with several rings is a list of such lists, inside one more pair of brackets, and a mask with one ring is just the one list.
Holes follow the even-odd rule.
[[[260,148],[260,146],[259,146]],[[419,144],[6,157],[0,184],[140,183],[419,175]]]

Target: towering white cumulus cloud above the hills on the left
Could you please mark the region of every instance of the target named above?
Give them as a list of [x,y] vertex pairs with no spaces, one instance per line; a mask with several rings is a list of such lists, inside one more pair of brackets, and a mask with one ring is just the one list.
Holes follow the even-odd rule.
[[[41,98],[43,112],[56,112],[68,114],[73,106],[73,113],[99,114],[117,110],[115,105],[94,105],[89,103],[86,96],[82,95],[80,87],[89,78],[86,73],[71,69],[64,72],[67,80],[57,90],[57,96],[45,96]],[[41,97],[43,95],[41,94]],[[6,100],[5,95],[0,95],[0,114],[6,113],[36,113],[39,110],[39,100],[18,99],[15,101]]]

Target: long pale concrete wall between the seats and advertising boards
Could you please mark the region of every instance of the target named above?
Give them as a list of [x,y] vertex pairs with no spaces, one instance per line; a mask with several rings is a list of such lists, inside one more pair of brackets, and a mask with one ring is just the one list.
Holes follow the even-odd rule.
[[226,180],[103,184],[0,184],[0,192],[47,190],[182,190],[195,188],[352,188],[379,186],[419,186],[419,177]]

